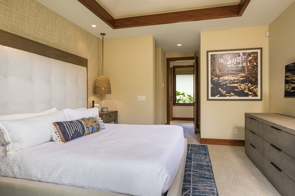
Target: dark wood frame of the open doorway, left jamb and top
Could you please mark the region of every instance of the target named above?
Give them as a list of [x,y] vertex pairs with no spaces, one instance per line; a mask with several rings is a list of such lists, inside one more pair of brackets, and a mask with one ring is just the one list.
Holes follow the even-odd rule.
[[[166,124],[170,124],[170,62],[186,60],[195,60],[195,56],[166,58]],[[196,65],[198,65],[197,62]],[[196,66],[196,68],[198,68],[198,66]],[[196,77],[198,78],[199,76],[196,75]],[[195,121],[196,120],[197,119],[195,119]]]

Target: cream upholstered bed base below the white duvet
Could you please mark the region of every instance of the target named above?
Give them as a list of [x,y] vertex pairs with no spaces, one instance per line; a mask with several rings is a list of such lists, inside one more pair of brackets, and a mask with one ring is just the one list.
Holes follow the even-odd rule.
[[[183,175],[187,153],[187,139],[177,175],[168,190],[167,196],[181,196]],[[59,184],[0,176],[2,196],[127,196],[91,189],[70,187]]]

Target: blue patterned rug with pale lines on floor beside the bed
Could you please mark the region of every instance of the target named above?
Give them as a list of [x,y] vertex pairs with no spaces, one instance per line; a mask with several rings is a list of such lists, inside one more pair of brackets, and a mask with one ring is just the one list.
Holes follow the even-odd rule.
[[206,145],[187,145],[181,196],[218,196]]

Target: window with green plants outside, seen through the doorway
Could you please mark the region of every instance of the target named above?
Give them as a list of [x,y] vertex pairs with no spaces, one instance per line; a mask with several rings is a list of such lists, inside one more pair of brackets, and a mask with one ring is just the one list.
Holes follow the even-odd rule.
[[174,66],[174,105],[192,105],[194,99],[193,66]]

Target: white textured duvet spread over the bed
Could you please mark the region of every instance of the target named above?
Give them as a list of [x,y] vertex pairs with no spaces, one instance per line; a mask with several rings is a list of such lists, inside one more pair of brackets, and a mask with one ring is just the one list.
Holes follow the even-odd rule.
[[9,156],[1,148],[0,175],[133,196],[165,193],[182,158],[182,127],[105,126],[61,145],[51,141]]

